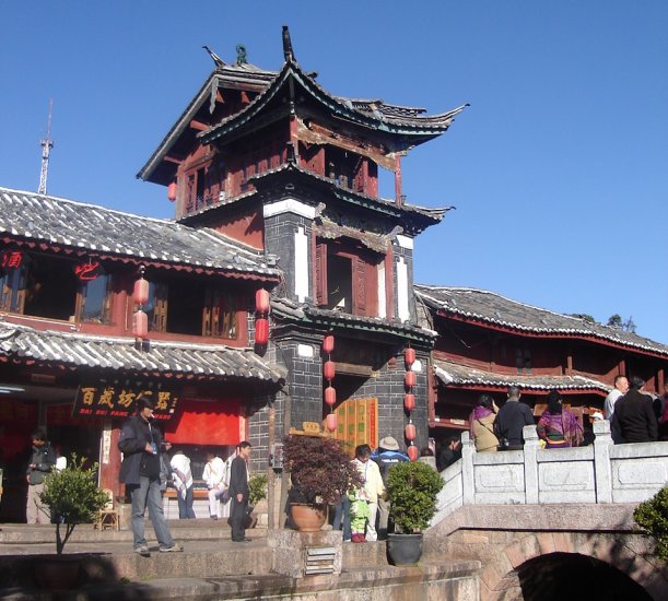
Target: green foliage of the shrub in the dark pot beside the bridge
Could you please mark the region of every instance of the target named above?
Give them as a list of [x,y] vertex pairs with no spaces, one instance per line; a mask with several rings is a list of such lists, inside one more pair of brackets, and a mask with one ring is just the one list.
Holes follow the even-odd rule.
[[436,512],[436,496],[444,482],[438,472],[421,461],[396,463],[387,473],[395,531],[405,534],[426,530]]

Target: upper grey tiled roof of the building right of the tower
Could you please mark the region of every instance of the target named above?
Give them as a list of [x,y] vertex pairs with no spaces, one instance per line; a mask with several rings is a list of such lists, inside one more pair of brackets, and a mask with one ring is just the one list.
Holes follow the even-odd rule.
[[590,323],[548,309],[511,300],[493,292],[465,287],[415,285],[418,299],[431,309],[485,321],[518,332],[595,338],[621,346],[668,356],[668,346],[618,328]]

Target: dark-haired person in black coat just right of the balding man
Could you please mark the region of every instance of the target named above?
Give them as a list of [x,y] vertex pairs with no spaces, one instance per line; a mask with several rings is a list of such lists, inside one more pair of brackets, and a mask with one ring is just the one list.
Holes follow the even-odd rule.
[[643,394],[645,382],[633,376],[629,386],[629,392],[614,403],[612,439],[617,444],[656,440],[658,422],[652,406],[652,397]]

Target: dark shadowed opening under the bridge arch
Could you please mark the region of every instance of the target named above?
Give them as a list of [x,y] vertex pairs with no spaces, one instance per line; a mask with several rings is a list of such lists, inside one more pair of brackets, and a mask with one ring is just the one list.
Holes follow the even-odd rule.
[[550,553],[517,569],[525,601],[652,601],[637,582],[611,565],[577,553]]

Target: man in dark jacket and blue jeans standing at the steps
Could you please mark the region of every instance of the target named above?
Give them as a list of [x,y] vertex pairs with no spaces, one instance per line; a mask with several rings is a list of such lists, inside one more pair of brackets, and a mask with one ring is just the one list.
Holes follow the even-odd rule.
[[172,445],[164,444],[160,429],[152,424],[154,403],[151,399],[141,398],[137,402],[137,414],[126,421],[120,431],[118,448],[122,452],[119,479],[126,484],[126,491],[132,500],[132,528],[134,551],[149,555],[149,545],[144,537],[144,514],[149,508],[149,518],[155,530],[155,537],[162,553],[183,551],[169,532],[163,512],[160,493],[160,453]]

